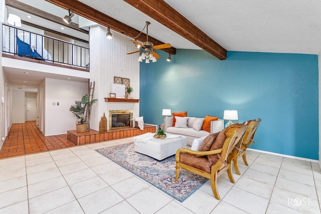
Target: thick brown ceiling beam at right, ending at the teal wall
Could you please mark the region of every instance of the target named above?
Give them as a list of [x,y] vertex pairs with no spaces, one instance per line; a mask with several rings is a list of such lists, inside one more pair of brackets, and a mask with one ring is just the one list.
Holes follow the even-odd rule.
[[220,60],[226,59],[226,50],[174,10],[159,0],[123,0],[150,18],[168,27]]

